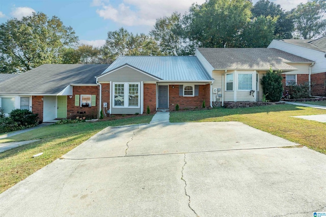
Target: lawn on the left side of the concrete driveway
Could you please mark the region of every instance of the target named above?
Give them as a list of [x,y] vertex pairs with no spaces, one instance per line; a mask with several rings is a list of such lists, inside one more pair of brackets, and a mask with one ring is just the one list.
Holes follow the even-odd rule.
[[[60,158],[104,128],[149,123],[152,117],[153,115],[143,115],[110,121],[50,125],[0,140],[0,143],[3,143],[40,139],[38,142],[0,153],[0,193]],[[42,156],[32,158],[40,152],[43,152]]]

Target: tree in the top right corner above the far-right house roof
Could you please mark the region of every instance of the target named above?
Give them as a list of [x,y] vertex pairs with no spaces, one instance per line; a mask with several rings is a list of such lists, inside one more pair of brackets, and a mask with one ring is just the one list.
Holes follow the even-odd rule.
[[313,0],[293,10],[295,30],[302,39],[326,35],[326,1]]

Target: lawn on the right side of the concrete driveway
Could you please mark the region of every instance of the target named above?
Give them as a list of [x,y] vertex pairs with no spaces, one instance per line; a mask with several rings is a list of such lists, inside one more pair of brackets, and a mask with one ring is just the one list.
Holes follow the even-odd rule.
[[326,123],[291,117],[313,114],[326,114],[326,110],[294,105],[238,109],[217,108],[202,111],[171,112],[170,121],[239,121],[326,154]]

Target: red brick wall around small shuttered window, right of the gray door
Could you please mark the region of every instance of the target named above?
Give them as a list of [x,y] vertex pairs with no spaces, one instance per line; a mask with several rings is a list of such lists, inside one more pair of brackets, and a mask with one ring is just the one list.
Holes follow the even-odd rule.
[[206,107],[210,106],[209,91],[210,85],[199,85],[199,96],[197,97],[182,97],[179,96],[179,85],[169,85],[169,108],[175,110],[176,104],[179,104],[180,109],[184,108],[201,108],[205,100]]

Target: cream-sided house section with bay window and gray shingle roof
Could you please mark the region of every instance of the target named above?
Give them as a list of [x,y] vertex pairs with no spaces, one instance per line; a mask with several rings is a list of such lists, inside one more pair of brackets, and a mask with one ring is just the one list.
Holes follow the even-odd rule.
[[212,101],[259,102],[261,78],[274,71],[308,76],[312,60],[273,48],[198,48],[196,56],[214,79]]

